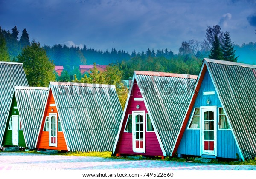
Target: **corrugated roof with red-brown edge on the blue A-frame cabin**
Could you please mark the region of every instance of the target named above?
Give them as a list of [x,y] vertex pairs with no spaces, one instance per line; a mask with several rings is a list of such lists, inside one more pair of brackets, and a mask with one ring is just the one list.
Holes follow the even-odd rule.
[[204,58],[173,153],[177,150],[178,141],[183,135],[183,128],[188,122],[191,106],[195,102],[206,70],[230,121],[242,159],[254,159],[256,157],[256,65],[207,58]]

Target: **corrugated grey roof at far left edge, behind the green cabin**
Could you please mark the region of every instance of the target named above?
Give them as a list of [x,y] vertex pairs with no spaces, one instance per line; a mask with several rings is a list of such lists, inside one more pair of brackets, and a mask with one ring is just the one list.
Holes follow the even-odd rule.
[[29,86],[23,64],[0,62],[0,140],[3,136],[14,86]]

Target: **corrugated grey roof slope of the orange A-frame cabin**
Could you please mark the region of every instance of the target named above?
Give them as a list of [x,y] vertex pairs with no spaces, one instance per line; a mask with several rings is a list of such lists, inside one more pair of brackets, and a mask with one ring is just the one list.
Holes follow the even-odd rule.
[[71,151],[113,150],[122,118],[114,85],[51,82],[49,88]]

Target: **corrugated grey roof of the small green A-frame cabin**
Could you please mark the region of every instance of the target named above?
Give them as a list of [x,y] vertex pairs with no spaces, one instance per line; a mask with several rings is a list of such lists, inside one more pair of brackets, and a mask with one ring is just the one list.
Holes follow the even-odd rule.
[[[15,86],[12,100],[15,96],[19,117],[22,124],[24,139],[29,149],[34,149],[48,88]],[[9,113],[12,103],[9,105]],[[8,117],[8,115],[7,115]],[[7,120],[6,120],[7,124]],[[5,130],[7,130],[5,125]],[[4,135],[3,135],[4,137]]]

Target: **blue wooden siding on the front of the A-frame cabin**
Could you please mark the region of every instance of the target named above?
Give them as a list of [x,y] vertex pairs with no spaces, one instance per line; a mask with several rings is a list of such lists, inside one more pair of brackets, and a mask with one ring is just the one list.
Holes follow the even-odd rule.
[[[200,108],[201,106],[217,106],[217,157],[221,158],[236,158],[236,153],[238,148],[233,137],[231,130],[218,130],[218,108],[221,108],[221,102],[218,98],[218,95],[215,91],[214,85],[212,83],[211,77],[208,70],[205,72],[204,79],[201,83],[201,86],[198,90],[198,95],[196,96],[195,103],[192,104],[192,112],[194,108]],[[203,92],[215,91],[214,95],[203,95]],[[210,100],[210,104],[207,105],[206,100]],[[182,136],[180,145],[177,149],[178,154],[183,155],[200,155],[200,129],[191,130],[187,129],[192,112],[189,114],[189,121],[187,122],[186,129]]]

